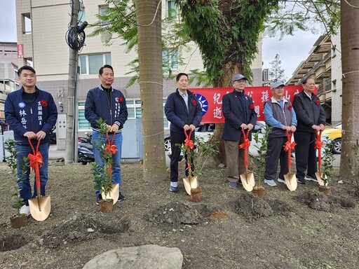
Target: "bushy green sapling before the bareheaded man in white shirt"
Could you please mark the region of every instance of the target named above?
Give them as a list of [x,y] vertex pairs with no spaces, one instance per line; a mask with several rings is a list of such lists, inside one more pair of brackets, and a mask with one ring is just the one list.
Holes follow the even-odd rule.
[[209,137],[208,142],[205,142],[203,137],[196,136],[196,149],[192,149],[191,151],[187,151],[187,146],[184,144],[176,144],[176,146],[181,149],[183,154],[187,153],[188,158],[194,160],[194,166],[196,169],[190,170],[189,176],[196,177],[203,174],[203,169],[205,168],[208,158],[219,153],[217,150],[219,142],[210,142],[210,140],[211,139]]

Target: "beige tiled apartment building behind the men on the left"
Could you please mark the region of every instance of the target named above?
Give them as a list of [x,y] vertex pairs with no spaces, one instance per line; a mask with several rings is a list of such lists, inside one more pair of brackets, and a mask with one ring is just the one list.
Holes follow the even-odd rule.
[[[66,120],[67,113],[67,89],[69,78],[69,46],[65,41],[65,34],[69,29],[71,3],[68,0],[16,0],[16,16],[18,44],[22,46],[23,56],[18,61],[19,67],[31,62],[36,69],[39,88],[50,92],[60,113],[59,119]],[[87,21],[86,35],[93,32],[93,27],[98,22],[97,14],[105,14],[109,6],[101,0],[81,1],[79,20]],[[162,16],[173,16],[177,8],[175,1],[162,1]],[[177,14],[174,20],[180,20]],[[98,69],[103,64],[111,64],[114,67],[114,88],[123,90],[128,104],[129,118],[140,118],[140,87],[137,83],[125,89],[125,85],[131,76],[126,75],[131,71],[128,63],[134,60],[135,52],[126,53],[121,45],[121,39],[111,41],[111,46],[104,46],[101,39],[104,36],[86,36],[85,46],[79,53],[79,81],[77,102],[79,104],[79,131],[90,130],[90,126],[83,116],[83,104],[90,88],[100,84],[97,77]],[[167,60],[177,72],[190,73],[191,69],[203,69],[203,62],[198,47],[189,43],[189,50],[173,50],[168,48],[163,51],[163,60]],[[254,74],[253,85],[262,85],[262,42],[259,42],[259,54],[252,64]],[[184,64],[178,62],[178,57],[184,59]],[[163,76],[166,77],[166,70]],[[194,86],[195,87],[195,86]],[[175,81],[163,79],[163,98],[175,90]],[[165,127],[168,127],[164,119]],[[65,140],[65,139],[64,139]],[[60,146],[65,146],[60,142]],[[59,143],[57,143],[59,145]]]

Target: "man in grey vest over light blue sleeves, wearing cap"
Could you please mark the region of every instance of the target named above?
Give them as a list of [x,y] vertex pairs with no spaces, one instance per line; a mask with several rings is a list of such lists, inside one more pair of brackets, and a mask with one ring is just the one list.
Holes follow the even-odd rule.
[[273,97],[264,103],[264,116],[266,124],[272,127],[268,136],[268,149],[266,151],[266,172],[264,182],[269,186],[276,186],[278,160],[280,172],[278,181],[285,183],[284,175],[288,172],[288,155],[284,151],[287,142],[287,132],[294,133],[297,130],[297,117],[290,101],[283,97],[284,84],[274,82],[271,84]]

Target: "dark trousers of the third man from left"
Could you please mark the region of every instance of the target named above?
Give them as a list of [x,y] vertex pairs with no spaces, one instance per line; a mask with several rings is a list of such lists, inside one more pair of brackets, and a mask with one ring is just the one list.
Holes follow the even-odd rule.
[[[181,149],[179,148],[178,145],[176,144],[184,144],[184,140],[186,139],[186,137],[184,136],[184,132],[179,133],[179,132],[170,132],[170,137],[171,137],[171,150],[172,150],[172,154],[171,154],[171,161],[170,161],[170,179],[171,182],[177,182],[178,181],[178,161],[179,161],[179,156],[181,155]],[[192,132],[191,135],[191,140],[194,142],[194,132]],[[193,150],[193,149],[192,149]],[[186,159],[186,170],[185,170],[185,174],[186,177],[188,177],[189,172],[188,172],[188,163],[187,163],[187,153],[184,154],[184,158]],[[190,163],[191,163],[191,170],[194,171],[194,162],[193,162],[193,158],[190,158]]]

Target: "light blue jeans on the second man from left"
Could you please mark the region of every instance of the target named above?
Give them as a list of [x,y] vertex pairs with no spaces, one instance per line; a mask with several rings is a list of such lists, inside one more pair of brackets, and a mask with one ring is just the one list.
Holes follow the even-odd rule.
[[[109,134],[109,140],[112,141],[114,134]],[[97,146],[100,141],[107,142],[106,135],[100,135],[100,132],[93,131],[93,138],[91,143],[93,144],[93,154],[95,156],[95,163],[100,166],[104,166],[104,159],[102,158],[100,151],[97,150],[94,141],[97,142]],[[112,182],[121,186],[121,148],[122,148],[122,132],[116,133],[114,139],[114,145],[116,145],[117,152],[112,155]],[[99,195],[99,191],[95,191],[96,195]]]

